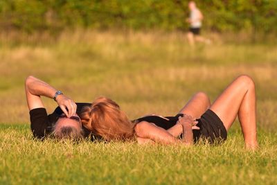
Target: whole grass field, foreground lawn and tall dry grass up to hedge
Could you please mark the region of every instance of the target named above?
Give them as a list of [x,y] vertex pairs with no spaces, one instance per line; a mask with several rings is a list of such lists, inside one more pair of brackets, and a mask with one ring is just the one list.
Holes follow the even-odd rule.
[[[64,33],[0,37],[0,184],[276,184],[277,46],[187,46],[181,33]],[[196,91],[215,100],[240,74],[256,82],[260,149],[243,148],[238,121],[222,146],[36,141],[24,79],[42,78],[76,102],[100,95],[129,118],[174,115]],[[44,98],[48,113],[53,100]]]

